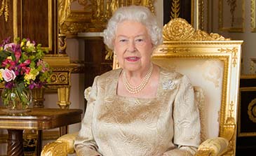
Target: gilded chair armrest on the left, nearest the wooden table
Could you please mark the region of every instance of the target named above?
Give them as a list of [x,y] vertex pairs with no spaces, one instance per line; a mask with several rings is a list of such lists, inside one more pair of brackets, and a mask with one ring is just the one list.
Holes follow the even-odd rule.
[[67,154],[74,153],[74,140],[77,135],[78,132],[65,134],[60,136],[56,141],[47,143],[46,146],[43,147],[41,156],[66,156]]

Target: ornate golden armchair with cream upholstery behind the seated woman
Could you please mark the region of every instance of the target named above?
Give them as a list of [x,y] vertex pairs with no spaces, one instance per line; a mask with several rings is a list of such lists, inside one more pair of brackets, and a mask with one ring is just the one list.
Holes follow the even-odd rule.
[[[187,75],[195,88],[201,116],[199,155],[236,155],[236,120],[241,44],[219,34],[195,30],[176,18],[163,27],[163,44],[152,55],[159,66]],[[118,68],[114,58],[113,69]],[[69,137],[71,136],[71,137]],[[48,143],[41,155],[74,153],[76,134]]]

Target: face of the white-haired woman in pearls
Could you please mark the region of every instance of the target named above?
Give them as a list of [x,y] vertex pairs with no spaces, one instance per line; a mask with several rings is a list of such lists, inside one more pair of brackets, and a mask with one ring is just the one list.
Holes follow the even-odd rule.
[[144,24],[132,20],[117,24],[114,52],[123,69],[147,70],[151,62],[153,44]]

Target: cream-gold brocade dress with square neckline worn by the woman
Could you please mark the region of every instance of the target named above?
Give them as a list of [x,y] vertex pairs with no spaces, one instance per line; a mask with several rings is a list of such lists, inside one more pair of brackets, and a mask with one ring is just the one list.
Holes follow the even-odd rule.
[[155,98],[121,97],[116,95],[121,70],[95,77],[76,155],[194,155],[200,121],[189,79],[161,68]]

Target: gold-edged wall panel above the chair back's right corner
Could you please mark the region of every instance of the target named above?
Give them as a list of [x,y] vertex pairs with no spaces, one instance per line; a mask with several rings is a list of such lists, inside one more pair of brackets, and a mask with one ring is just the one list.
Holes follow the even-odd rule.
[[219,31],[243,32],[244,20],[245,0],[219,0]]

